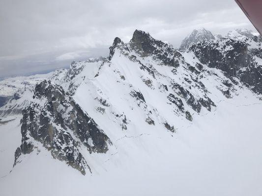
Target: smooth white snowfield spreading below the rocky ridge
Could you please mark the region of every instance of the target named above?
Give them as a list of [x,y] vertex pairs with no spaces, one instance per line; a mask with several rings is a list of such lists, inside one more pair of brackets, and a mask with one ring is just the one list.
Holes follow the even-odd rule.
[[173,137],[152,129],[113,140],[117,154],[100,157],[102,167],[83,176],[44,148],[12,170],[21,137],[15,120],[0,125],[1,195],[259,196],[261,127],[261,101],[246,91],[181,124]]

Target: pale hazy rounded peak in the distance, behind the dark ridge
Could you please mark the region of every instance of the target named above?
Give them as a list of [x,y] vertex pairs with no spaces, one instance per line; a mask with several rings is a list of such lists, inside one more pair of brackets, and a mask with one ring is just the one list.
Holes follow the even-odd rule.
[[181,43],[181,46],[179,47],[180,50],[185,50],[187,49],[191,44],[193,43],[198,43],[200,41],[204,41],[204,40],[214,40],[216,39],[213,34],[204,29],[204,28],[201,28],[201,29],[198,29],[198,30],[193,30],[193,32],[188,35]]

